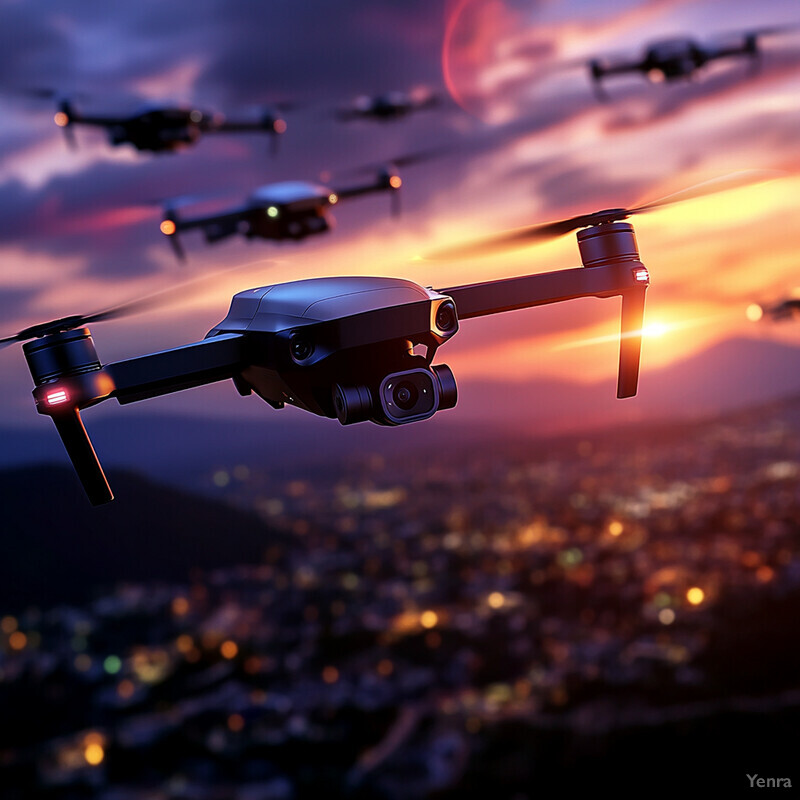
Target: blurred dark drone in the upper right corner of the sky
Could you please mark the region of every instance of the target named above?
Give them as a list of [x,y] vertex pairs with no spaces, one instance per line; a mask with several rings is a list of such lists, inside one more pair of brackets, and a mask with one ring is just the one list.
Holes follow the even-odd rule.
[[588,62],[589,74],[598,99],[606,100],[608,95],[602,82],[608,76],[638,72],[651,83],[689,80],[711,61],[722,58],[749,58],[755,69],[761,55],[760,38],[786,30],[787,27],[757,28],[719,43],[702,43],[691,38],[663,39],[649,44],[638,59],[594,58]]

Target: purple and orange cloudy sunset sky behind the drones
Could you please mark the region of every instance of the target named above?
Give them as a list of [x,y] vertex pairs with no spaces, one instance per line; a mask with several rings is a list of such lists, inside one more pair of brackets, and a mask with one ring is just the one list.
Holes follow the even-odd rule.
[[[181,287],[169,308],[93,326],[108,362],[201,339],[234,293],[255,286],[377,274],[446,287],[574,267],[574,235],[490,258],[424,256],[519,225],[772,169],[783,176],[636,219],[652,276],[646,331],[654,335],[645,341],[642,380],[648,369],[727,339],[795,344],[791,325],[756,326],[744,309],[800,287],[800,31],[765,37],[756,72],[728,60],[691,82],[609,79],[605,103],[583,65],[591,56],[635,57],[671,36],[715,41],[798,22],[796,0],[5,0],[0,336]],[[446,101],[392,123],[342,123],[332,113],[358,95],[422,86]],[[236,115],[287,103],[288,130],[276,157],[257,135],[207,137],[178,155],[148,155],[80,126],[71,151],[53,124],[53,103],[32,96],[42,88],[73,96],[86,113],[180,101]],[[234,238],[209,246],[188,232],[185,265],[158,230],[165,198],[197,194],[209,198],[205,208],[240,202],[273,181],[321,176],[336,188],[363,178],[361,167],[431,148],[442,157],[403,172],[399,219],[390,217],[388,198],[375,195],[341,204],[335,230],[301,243]],[[465,323],[440,360],[462,392],[471,381],[542,377],[608,380],[613,391],[618,324],[616,300],[514,312]],[[0,374],[6,419],[34,424],[19,347],[0,351]],[[233,390],[183,395],[142,407],[254,413]]]

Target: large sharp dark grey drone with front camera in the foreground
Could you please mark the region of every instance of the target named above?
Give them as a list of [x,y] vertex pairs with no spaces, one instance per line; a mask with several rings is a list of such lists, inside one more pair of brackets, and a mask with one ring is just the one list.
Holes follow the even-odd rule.
[[617,396],[635,395],[649,275],[631,225],[582,225],[589,225],[578,232],[582,267],[438,290],[360,277],[249,289],[234,296],[227,317],[202,341],[111,364],[101,364],[82,326],[130,313],[131,306],[66,317],[0,341],[25,342],[37,410],[52,418],[89,500],[99,505],[113,494],[82,409],[111,397],[132,403],[232,379],[240,394],[255,392],[276,409],[289,403],[343,425],[404,425],[455,406],[453,373],[433,359],[460,320],[473,317],[618,295]]

